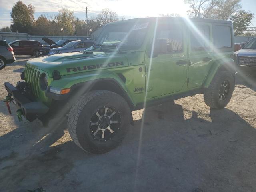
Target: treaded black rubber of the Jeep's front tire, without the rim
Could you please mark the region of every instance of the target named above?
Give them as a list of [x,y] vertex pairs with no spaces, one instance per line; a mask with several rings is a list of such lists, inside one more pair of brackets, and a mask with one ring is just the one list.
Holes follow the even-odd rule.
[[[90,132],[92,116],[102,106],[114,106],[120,113],[120,130],[107,141],[98,141]],[[77,146],[83,150],[101,154],[118,146],[130,126],[130,108],[122,96],[106,91],[93,90],[76,101],[68,114],[68,132]],[[119,116],[118,116],[119,117]]]

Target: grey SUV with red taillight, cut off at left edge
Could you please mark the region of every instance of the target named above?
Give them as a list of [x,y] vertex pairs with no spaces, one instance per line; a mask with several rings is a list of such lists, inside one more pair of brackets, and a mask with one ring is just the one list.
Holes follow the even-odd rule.
[[6,64],[13,63],[15,56],[13,49],[5,40],[0,40],[0,70],[3,69]]

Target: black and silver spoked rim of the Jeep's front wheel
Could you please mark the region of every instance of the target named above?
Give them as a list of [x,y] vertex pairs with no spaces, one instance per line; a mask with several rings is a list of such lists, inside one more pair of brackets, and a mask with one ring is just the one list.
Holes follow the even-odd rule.
[[113,138],[121,127],[121,114],[115,107],[104,106],[92,116],[90,134],[98,141],[108,141]]

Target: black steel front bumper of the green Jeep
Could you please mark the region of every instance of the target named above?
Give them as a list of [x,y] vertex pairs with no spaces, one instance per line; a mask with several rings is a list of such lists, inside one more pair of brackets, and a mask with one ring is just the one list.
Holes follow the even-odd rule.
[[32,122],[36,118],[46,114],[49,108],[42,102],[33,101],[22,94],[18,88],[14,87],[9,82],[4,83],[8,95],[12,97],[12,102],[18,109],[22,109],[23,116],[26,120]]

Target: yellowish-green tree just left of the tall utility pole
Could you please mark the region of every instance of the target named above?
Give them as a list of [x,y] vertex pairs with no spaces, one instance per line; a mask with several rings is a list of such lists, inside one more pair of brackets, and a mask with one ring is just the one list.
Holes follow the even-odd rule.
[[[59,35],[73,35],[74,34],[74,12],[66,8],[61,8],[58,14],[55,16],[55,20],[58,24]],[[61,31],[63,28],[63,32]]]

